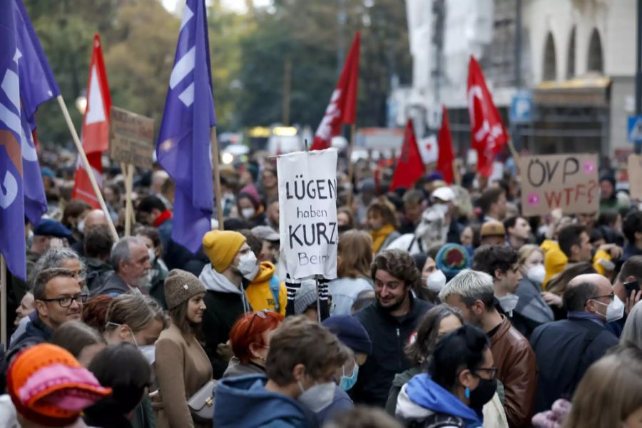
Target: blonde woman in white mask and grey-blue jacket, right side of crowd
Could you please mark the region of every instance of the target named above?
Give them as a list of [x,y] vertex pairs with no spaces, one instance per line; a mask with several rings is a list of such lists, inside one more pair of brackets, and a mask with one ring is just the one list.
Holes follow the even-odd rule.
[[524,319],[527,335],[536,327],[555,320],[553,310],[541,297],[541,283],[544,282],[544,250],[537,245],[522,245],[517,252],[517,264],[521,280],[515,294],[519,297],[515,312]]

